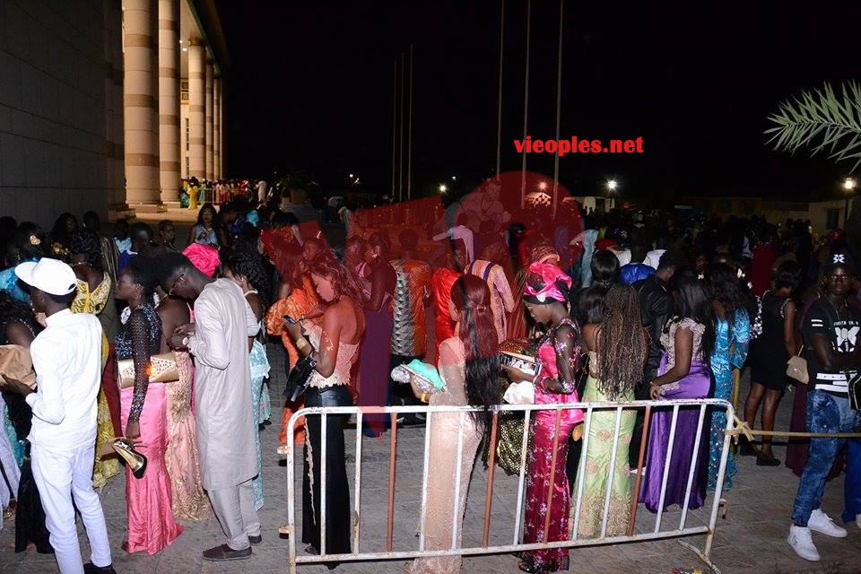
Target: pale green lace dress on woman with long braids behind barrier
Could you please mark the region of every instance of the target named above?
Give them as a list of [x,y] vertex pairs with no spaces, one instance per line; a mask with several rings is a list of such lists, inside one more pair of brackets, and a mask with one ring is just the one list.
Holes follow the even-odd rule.
[[[595,352],[589,352],[589,377],[586,381],[586,392],[583,401],[589,403],[609,401],[598,388],[601,373],[598,369],[598,357]],[[616,401],[632,401],[633,393],[617,396]],[[589,424],[589,436],[586,454],[585,475],[583,476],[583,498],[580,502],[580,522],[578,535],[583,538],[601,536],[601,526],[604,520],[604,500],[607,488],[610,488],[610,510],[607,513],[607,536],[622,536],[628,532],[628,521],[631,517],[631,466],[628,462],[628,447],[631,444],[631,434],[637,413],[633,410],[622,411],[622,421],[619,426],[619,444],[613,454],[613,439],[616,431],[615,409],[595,410],[592,412],[592,422]],[[610,474],[611,461],[613,475]],[[573,519],[575,509],[571,509]]]

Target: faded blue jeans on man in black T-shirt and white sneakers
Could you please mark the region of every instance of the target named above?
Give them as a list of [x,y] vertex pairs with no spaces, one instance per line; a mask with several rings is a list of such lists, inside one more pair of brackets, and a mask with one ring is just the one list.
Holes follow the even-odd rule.
[[[807,394],[806,422],[808,432],[851,432],[861,423],[861,412],[850,408],[848,398],[814,389]],[[810,439],[810,454],[792,509],[796,526],[807,526],[813,510],[820,507],[825,478],[845,442],[846,439]]]

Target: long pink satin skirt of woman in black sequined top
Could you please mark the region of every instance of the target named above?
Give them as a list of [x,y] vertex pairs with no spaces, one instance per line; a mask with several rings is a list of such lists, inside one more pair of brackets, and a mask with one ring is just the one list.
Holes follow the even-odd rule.
[[[134,387],[120,391],[123,429],[132,407]],[[126,509],[128,509],[129,553],[145,550],[147,554],[159,552],[182,534],[171,509],[170,476],[164,465],[164,452],[168,443],[167,399],[164,385],[152,383],[146,390],[141,413],[141,439],[138,451],[147,458],[146,472],[137,479],[126,466]]]

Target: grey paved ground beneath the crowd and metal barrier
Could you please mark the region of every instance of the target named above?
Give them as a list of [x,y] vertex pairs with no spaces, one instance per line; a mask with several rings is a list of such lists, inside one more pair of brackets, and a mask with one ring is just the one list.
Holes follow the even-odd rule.
[[[272,396],[280,396],[283,387],[283,366],[280,349],[270,346],[273,362]],[[746,389],[745,391],[746,392]],[[743,396],[744,396],[743,392]],[[788,425],[788,412],[792,396],[781,404],[778,424]],[[286,521],[286,467],[281,457],[275,454],[277,447],[276,425],[262,432],[265,460],[265,507],[260,512],[264,524],[264,543],[254,549],[250,561],[218,564],[204,562],[200,551],[222,542],[222,532],[215,519],[186,525],[186,530],[169,548],[155,556],[142,553],[128,555],[121,550],[126,531],[125,479],[117,477],[101,491],[101,500],[108,519],[109,532],[114,552],[114,563],[120,574],[130,573],[200,573],[228,574],[248,572],[287,571],[287,542],[277,535],[278,526]],[[348,475],[354,468],[355,432],[348,432]],[[396,548],[409,548],[415,544],[413,537],[417,522],[421,496],[423,430],[404,429],[398,433],[398,471],[396,482],[395,544]],[[363,494],[362,494],[362,549],[383,549],[386,528],[387,462],[388,443],[376,439],[364,439]],[[784,448],[776,448],[778,457]],[[297,468],[301,468],[299,455]],[[301,471],[297,472],[297,479]],[[297,485],[299,485],[297,481]],[[480,541],[483,524],[484,489],[486,474],[481,465],[476,465],[469,494],[465,520],[465,544]],[[726,573],[849,573],[861,571],[861,532],[855,525],[849,526],[849,537],[845,540],[828,539],[815,535],[815,542],[824,557],[819,565],[813,565],[796,557],[785,542],[789,524],[789,512],[797,486],[796,476],[786,468],[763,468],[753,464],[750,457],[739,460],[739,474],[735,488],[726,493],[729,503],[726,519],[718,520],[713,560]],[[514,524],[517,481],[505,474],[497,473],[493,497],[491,544],[509,540]],[[709,499],[710,500],[710,499]],[[832,517],[838,516],[843,501],[842,479],[828,485],[824,508]],[[301,500],[297,504],[297,522],[301,524]],[[707,508],[709,504],[707,502]],[[665,527],[679,518],[678,512],[665,517]],[[704,524],[706,515],[702,511],[690,515],[691,524]],[[644,531],[653,525],[653,517],[647,511],[639,512],[637,528]],[[0,531],[0,574],[30,574],[57,572],[56,562],[50,556],[42,556],[30,550],[14,554],[10,548],[13,527],[5,525]],[[86,542],[82,531],[82,544]],[[704,537],[689,539],[702,544]],[[498,544],[498,543],[497,543]],[[299,545],[301,548],[301,545]],[[87,554],[85,553],[85,556]],[[341,565],[337,571],[344,574],[400,573],[404,561],[364,562]],[[624,544],[613,547],[578,549],[571,552],[572,572],[638,572],[668,573],[674,568],[693,569],[700,561],[693,553],[673,540],[656,543]],[[327,570],[322,566],[300,566],[300,573],[319,573]],[[508,555],[468,558],[465,571],[475,573],[516,572],[517,561]]]

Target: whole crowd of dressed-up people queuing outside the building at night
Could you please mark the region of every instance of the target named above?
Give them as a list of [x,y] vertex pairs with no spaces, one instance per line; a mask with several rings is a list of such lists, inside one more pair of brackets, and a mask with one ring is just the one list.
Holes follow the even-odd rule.
[[[757,217],[681,221],[618,211],[581,219],[570,204],[555,215],[541,208],[512,215],[491,182],[453,217],[439,204],[348,210],[345,245],[333,248],[316,222],[291,212],[289,194],[265,185],[254,191],[250,199],[228,196],[217,209],[203,204],[185,246],[169,220],[157,230],[118,221],[108,236],[95,213],[85,213],[83,224],[65,213],[49,234],[0,218],[0,344],[10,353],[28,349],[35,371],[35,384],[5,371],[0,383],[0,502],[15,514],[16,551],[32,543],[54,552],[64,573],[114,571],[93,489],[125,472],[126,552],[160,552],[184,522],[214,513],[225,542],[204,559],[247,558],[262,541],[259,432],[280,422],[281,443],[305,448],[306,550],[351,552],[347,421],[326,417],[324,451],[319,416],[288,436],[287,422],[303,406],[476,407],[465,419],[431,418],[433,472],[419,525],[428,550],[460,537],[452,517],[464,516],[474,461],[489,458],[491,413],[506,401],[727,400],[733,370],[749,364],[744,418],[757,426],[761,409],[761,427],[770,431],[794,382],[787,361],[801,354],[810,382],[796,387],[793,430],[852,431],[861,422],[848,383],[861,370],[861,300],[842,231],[818,241],[803,222],[777,226]],[[267,337],[283,350],[284,376],[309,373],[305,392],[275,408]],[[540,366],[537,375],[505,360],[512,346]],[[423,385],[417,374],[401,384],[393,371],[403,366],[432,371],[441,385]],[[615,410],[596,410],[584,437],[580,409],[534,413],[523,543],[567,540],[575,512],[581,537],[625,535],[632,470],[642,474],[638,502],[651,512],[704,504],[718,487],[726,413],[709,410],[703,419],[699,408],[681,408],[674,418],[672,409],[657,408],[647,433],[643,414],[625,409],[617,421]],[[390,423],[368,414],[363,431],[379,436]],[[494,458],[510,474],[520,472],[522,425],[522,416],[500,415]],[[109,456],[117,438],[143,465],[124,470]],[[861,527],[861,443],[844,442],[799,440],[787,453],[787,466],[801,476],[787,540],[807,560],[819,559],[812,531],[847,535],[820,509],[826,480],[844,467],[843,519]],[[744,441],[740,455],[780,464],[770,438]],[[720,487],[732,488],[734,479],[730,454]],[[90,538],[87,564],[73,498]],[[518,557],[529,572],[569,565],[563,548]],[[410,570],[456,573],[461,558],[417,559]]]

